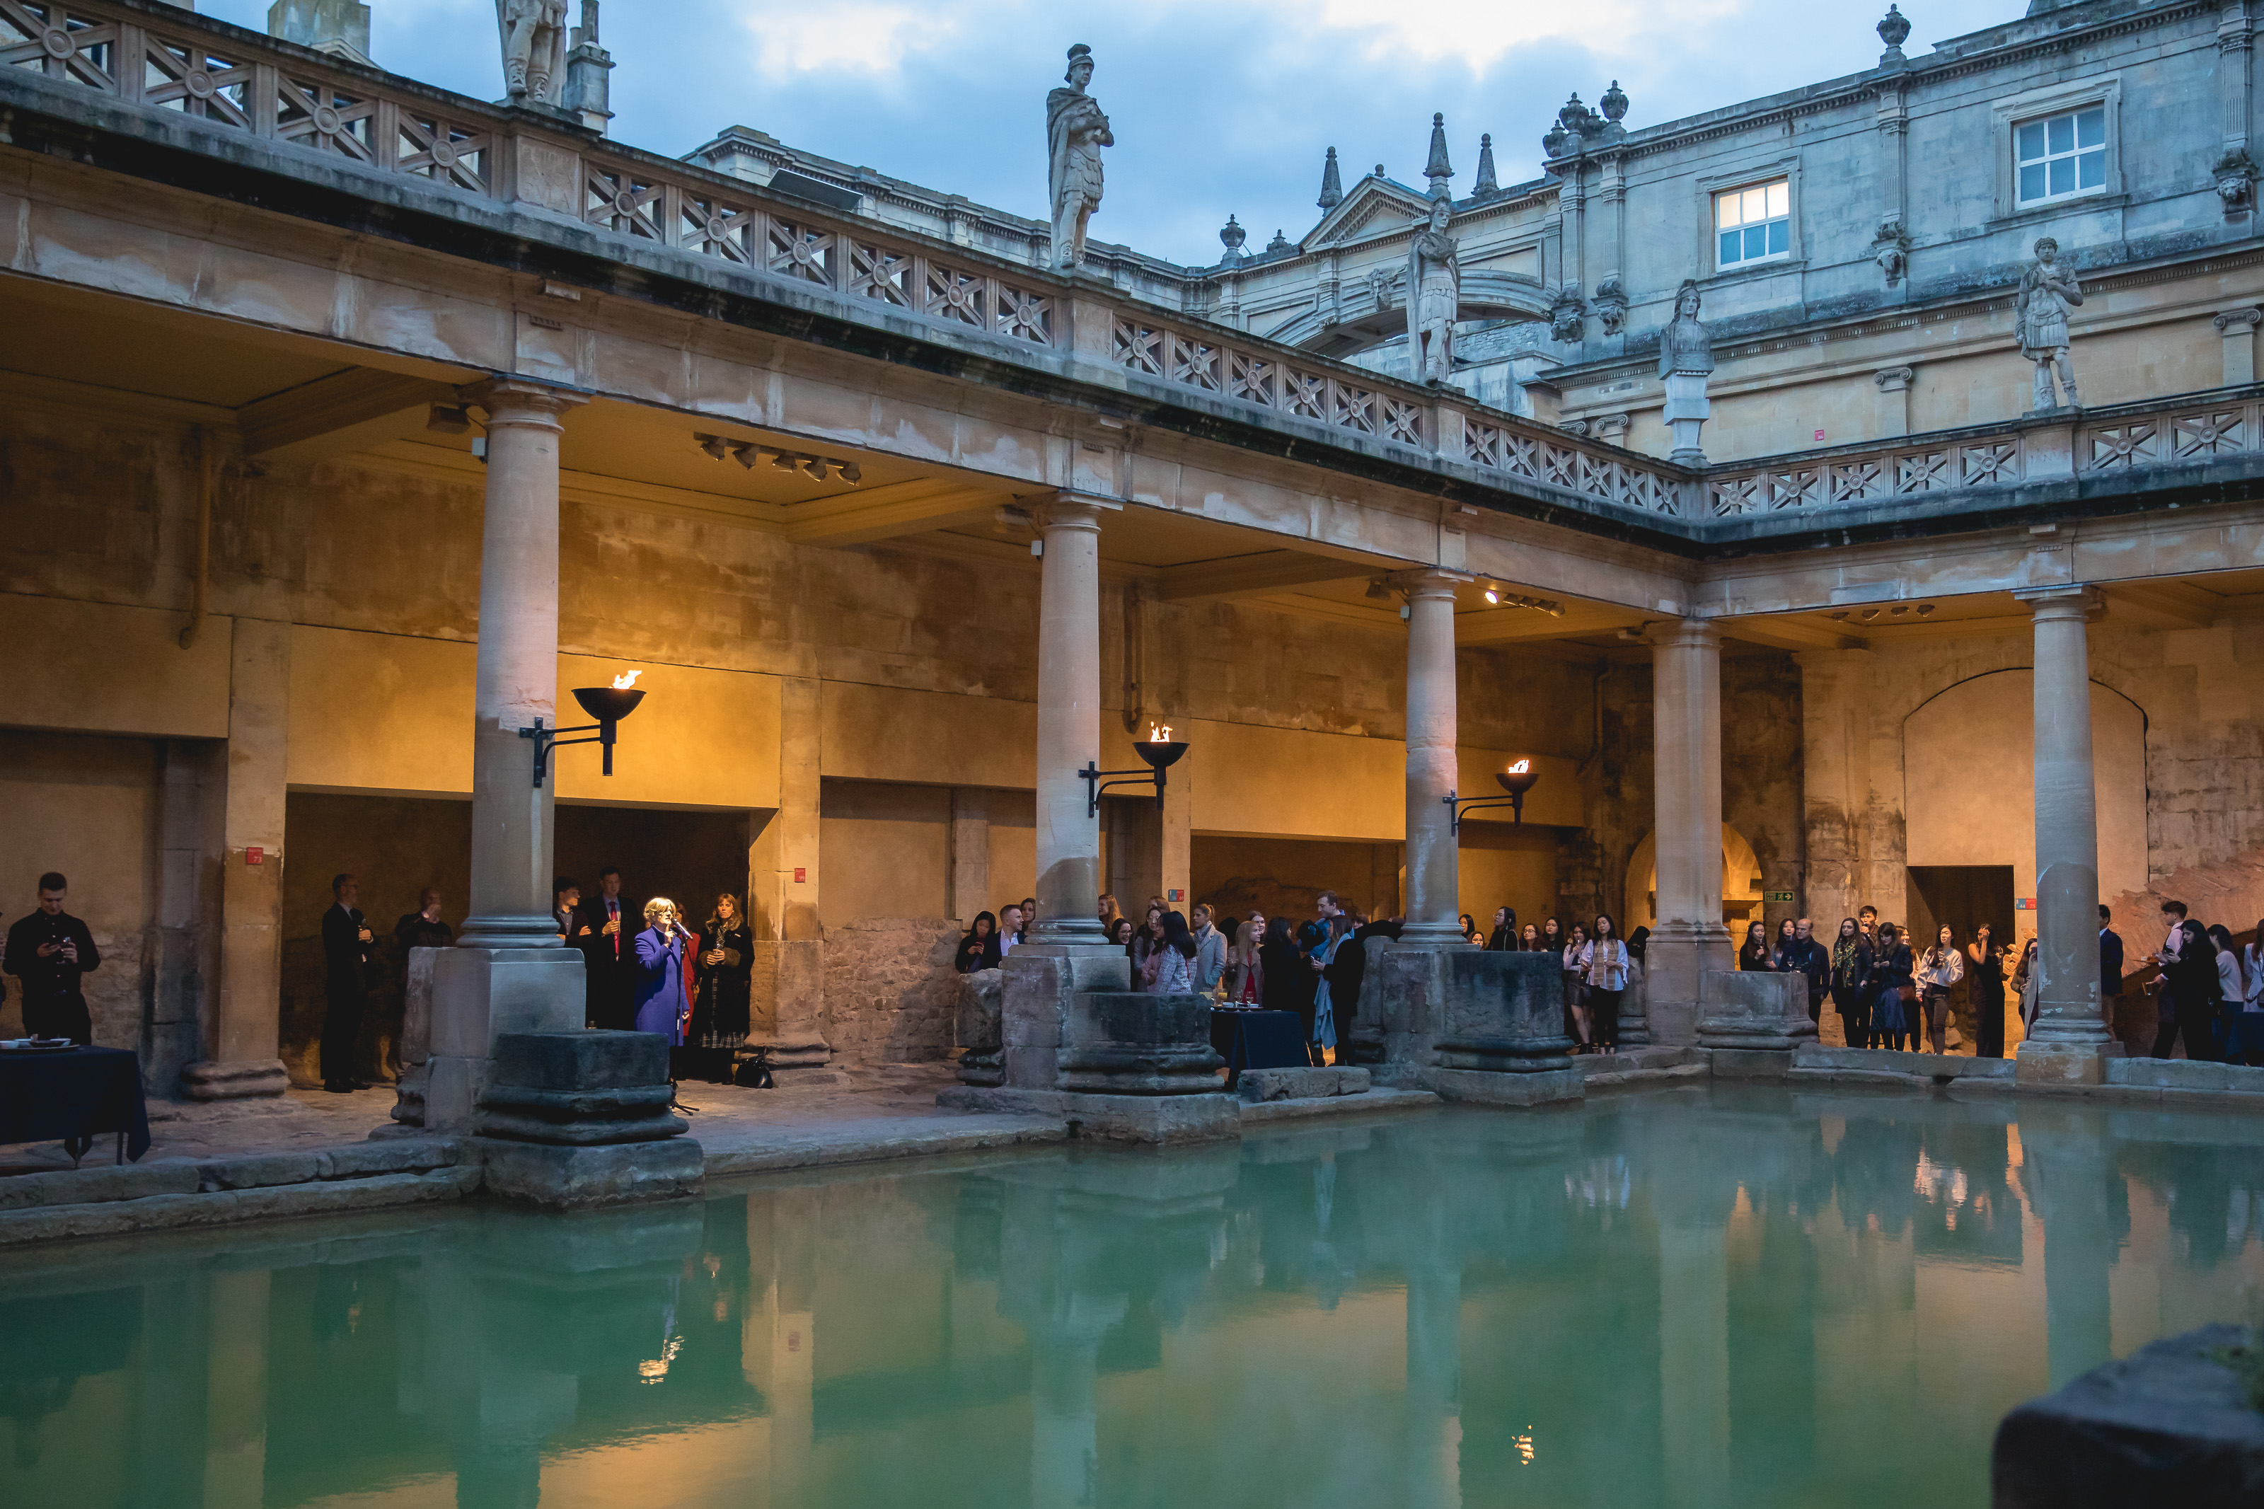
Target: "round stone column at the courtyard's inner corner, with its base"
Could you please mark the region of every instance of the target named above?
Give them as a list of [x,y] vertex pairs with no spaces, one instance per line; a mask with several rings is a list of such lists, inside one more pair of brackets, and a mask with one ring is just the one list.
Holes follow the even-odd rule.
[[1644,955],[1650,1038],[1689,1043],[1698,977],[1730,968],[1721,921],[1721,631],[1696,618],[1650,640],[1657,912]]

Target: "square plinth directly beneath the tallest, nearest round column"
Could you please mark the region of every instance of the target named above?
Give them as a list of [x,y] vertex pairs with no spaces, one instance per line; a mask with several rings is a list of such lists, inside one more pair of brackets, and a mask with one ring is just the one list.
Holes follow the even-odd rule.
[[573,948],[448,948],[432,962],[428,1131],[473,1131],[503,1032],[573,1032],[586,1007]]

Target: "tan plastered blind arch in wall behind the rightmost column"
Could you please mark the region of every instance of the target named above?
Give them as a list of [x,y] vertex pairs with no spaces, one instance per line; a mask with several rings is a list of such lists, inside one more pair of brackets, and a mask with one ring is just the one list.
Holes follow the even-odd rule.
[[[2146,735],[2133,697],[2092,679],[2092,787],[2099,889],[2146,887]],[[1920,699],[1902,717],[1904,864],[2013,866],[2035,894],[2035,674],[1986,670]],[[2033,916],[2024,919],[2033,930]]]

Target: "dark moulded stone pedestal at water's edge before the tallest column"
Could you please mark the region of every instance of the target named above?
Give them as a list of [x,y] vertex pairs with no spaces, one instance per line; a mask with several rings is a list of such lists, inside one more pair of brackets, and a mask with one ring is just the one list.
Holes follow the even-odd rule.
[[672,1097],[659,1034],[498,1034],[473,1138],[487,1190],[552,1210],[697,1195],[706,1158]]

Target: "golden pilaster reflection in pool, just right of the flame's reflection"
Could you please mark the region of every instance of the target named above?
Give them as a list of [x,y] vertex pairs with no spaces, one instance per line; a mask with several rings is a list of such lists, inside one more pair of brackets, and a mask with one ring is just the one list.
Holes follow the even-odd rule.
[[740,1373],[770,1405],[767,1502],[797,1504],[811,1475],[811,1391],[817,1378],[817,1190],[747,1197],[752,1303],[740,1323]]

